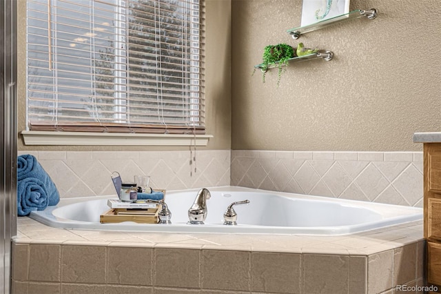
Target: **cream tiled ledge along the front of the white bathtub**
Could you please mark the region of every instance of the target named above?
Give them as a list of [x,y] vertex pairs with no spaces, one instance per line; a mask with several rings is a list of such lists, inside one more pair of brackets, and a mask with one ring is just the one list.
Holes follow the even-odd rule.
[[[369,255],[422,240],[422,222],[409,222],[353,235],[186,234],[86,231],[52,228],[20,217],[16,243],[94,244],[101,246],[176,246],[180,248],[241,248],[249,251]],[[331,253],[331,252],[329,252]]]

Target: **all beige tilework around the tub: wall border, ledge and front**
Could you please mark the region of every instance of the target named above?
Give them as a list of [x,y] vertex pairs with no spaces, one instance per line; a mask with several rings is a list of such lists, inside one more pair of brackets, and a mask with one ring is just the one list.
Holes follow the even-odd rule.
[[[236,185],[411,206],[422,198],[422,153],[198,151],[192,176],[183,151],[31,154],[61,197],[112,194],[119,170],[170,190]],[[18,229],[13,293],[389,294],[424,284],[422,222],[327,237],[81,231],[28,217]]]

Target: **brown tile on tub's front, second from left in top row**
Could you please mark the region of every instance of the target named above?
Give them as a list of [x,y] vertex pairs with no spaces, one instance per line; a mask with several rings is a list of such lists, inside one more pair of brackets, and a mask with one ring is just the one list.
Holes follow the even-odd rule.
[[60,245],[30,244],[29,280],[60,281]]

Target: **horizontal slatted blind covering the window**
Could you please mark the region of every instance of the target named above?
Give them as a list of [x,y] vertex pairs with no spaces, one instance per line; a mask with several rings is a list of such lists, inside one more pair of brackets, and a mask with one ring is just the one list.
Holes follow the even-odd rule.
[[28,0],[28,129],[205,133],[203,0]]

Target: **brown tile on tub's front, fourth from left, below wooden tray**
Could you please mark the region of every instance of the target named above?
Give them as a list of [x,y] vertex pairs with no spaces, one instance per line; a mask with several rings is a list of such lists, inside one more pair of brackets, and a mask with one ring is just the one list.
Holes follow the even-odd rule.
[[152,248],[108,247],[107,283],[152,285]]

